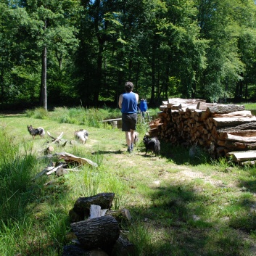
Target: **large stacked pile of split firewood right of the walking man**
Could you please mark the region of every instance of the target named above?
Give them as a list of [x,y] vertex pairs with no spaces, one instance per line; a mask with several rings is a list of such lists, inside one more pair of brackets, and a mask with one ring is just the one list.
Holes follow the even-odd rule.
[[160,110],[149,123],[151,136],[171,144],[201,146],[212,157],[256,159],[256,117],[244,105],[176,98],[162,102]]

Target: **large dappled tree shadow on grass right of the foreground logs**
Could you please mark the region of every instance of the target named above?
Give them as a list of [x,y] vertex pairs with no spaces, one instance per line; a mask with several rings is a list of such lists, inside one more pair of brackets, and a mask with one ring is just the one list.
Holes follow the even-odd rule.
[[[136,217],[129,239],[136,255],[246,255],[237,231],[207,215],[213,198],[195,194],[192,186],[160,187],[149,200],[147,207],[131,209]],[[152,237],[141,234],[140,226]]]

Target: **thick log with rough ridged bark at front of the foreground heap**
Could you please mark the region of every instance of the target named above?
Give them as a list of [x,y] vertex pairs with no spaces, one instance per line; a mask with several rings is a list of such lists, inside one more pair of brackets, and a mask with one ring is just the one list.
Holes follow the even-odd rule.
[[71,223],[71,228],[85,249],[110,249],[120,235],[117,220],[110,215]]

